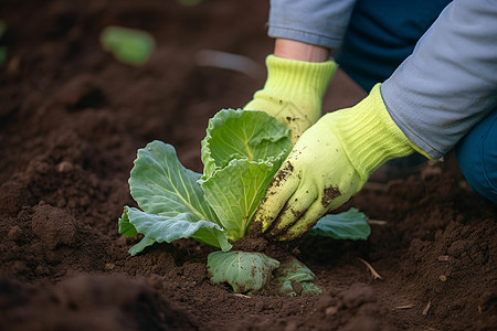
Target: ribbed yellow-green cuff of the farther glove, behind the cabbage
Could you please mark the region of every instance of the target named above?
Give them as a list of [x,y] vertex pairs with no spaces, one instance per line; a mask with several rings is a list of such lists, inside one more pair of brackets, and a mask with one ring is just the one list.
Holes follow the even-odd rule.
[[272,95],[286,100],[297,98],[296,104],[302,103],[303,98],[311,98],[311,102],[317,98],[320,106],[337,64],[332,60],[305,62],[268,55],[266,67],[267,79],[264,85],[266,93],[274,90],[276,93]]

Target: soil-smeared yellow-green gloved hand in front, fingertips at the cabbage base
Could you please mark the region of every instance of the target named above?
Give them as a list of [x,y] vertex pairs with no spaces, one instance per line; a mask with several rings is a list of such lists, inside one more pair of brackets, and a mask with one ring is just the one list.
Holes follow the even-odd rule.
[[355,107],[327,114],[304,132],[271,182],[253,227],[274,239],[295,239],[346,203],[382,163],[415,150],[391,119],[378,84]]

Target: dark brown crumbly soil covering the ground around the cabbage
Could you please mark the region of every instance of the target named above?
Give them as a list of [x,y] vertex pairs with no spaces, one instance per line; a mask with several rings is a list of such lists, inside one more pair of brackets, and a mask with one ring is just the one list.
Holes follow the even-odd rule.
[[[318,297],[233,295],[209,281],[212,248],[189,239],[128,255],[136,239],[118,235],[117,218],[134,205],[136,150],[162,140],[201,171],[208,119],[242,107],[265,72],[199,66],[194,55],[219,50],[262,66],[272,52],[267,7],[0,2],[9,28],[0,40],[9,51],[0,68],[1,330],[497,330],[497,209],[447,162],[368,184],[349,202],[387,222],[367,242],[306,237],[293,247],[325,289]],[[109,24],[156,36],[145,66],[102,51]],[[327,109],[362,95],[340,73]]]

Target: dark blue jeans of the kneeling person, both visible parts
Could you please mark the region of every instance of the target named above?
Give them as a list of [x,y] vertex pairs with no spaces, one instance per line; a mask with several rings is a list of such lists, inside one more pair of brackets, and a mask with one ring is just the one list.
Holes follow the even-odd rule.
[[[390,77],[411,55],[417,40],[448,2],[359,0],[342,47],[335,56],[337,63],[369,92],[374,84]],[[459,168],[472,189],[497,203],[497,110],[476,125],[457,143],[455,151]],[[390,162],[400,164],[399,161]],[[419,162],[416,156],[406,161]]]

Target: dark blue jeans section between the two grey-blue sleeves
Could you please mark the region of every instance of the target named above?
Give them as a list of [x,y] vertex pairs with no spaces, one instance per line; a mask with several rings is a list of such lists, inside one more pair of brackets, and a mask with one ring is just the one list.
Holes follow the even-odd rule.
[[411,55],[451,0],[359,0],[335,58],[364,90],[382,83]]

